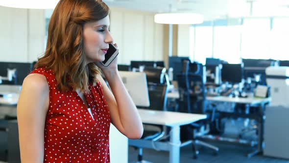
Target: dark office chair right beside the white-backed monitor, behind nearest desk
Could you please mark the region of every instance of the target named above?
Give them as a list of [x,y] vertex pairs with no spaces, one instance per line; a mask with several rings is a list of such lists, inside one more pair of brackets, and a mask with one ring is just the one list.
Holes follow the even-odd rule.
[[[166,68],[145,67],[144,72],[146,73],[150,106],[138,108],[166,110],[169,85],[169,77],[166,74]],[[165,126],[144,124],[144,129],[142,139],[151,140],[152,142],[158,141],[166,135]],[[138,150],[137,163],[149,163],[143,160],[143,149],[138,148]]]

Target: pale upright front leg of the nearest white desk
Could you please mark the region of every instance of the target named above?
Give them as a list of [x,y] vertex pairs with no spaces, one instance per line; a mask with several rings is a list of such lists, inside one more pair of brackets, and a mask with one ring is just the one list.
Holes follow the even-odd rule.
[[169,163],[180,163],[180,126],[175,126],[171,128],[169,139]]

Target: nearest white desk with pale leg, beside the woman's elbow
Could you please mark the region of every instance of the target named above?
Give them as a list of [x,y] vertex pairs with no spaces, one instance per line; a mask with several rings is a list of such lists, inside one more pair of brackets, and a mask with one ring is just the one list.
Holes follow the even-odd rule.
[[144,139],[129,139],[128,144],[140,148],[157,148],[169,151],[169,163],[180,163],[180,126],[205,119],[203,114],[180,113],[171,111],[158,111],[138,109],[144,124],[165,125],[171,127],[169,142],[152,142]]

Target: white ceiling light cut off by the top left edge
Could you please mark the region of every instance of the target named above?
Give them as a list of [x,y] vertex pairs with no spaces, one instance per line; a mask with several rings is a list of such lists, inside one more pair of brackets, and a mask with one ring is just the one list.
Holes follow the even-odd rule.
[[32,9],[54,9],[59,0],[0,0],[0,6]]

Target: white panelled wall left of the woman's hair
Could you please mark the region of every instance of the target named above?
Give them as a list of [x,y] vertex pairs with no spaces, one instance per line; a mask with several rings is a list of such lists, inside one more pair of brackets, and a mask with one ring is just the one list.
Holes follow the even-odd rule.
[[0,61],[32,62],[44,51],[44,10],[0,6]]

